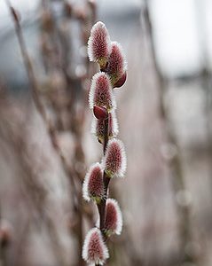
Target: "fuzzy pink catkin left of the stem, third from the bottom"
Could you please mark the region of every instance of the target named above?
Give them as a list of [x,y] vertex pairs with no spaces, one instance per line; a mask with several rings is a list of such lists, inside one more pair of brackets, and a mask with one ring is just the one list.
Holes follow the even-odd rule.
[[91,165],[82,184],[82,196],[84,200],[94,200],[97,204],[104,197],[103,169],[97,162]]

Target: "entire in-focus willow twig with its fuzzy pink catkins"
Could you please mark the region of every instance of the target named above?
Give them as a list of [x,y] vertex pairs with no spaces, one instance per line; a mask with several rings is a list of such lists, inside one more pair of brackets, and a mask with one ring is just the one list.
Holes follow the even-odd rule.
[[122,212],[114,199],[108,197],[108,185],[114,177],[126,171],[126,155],[122,141],[117,139],[118,124],[114,88],[126,81],[127,63],[119,43],[112,42],[104,23],[98,21],[90,31],[88,42],[90,61],[97,62],[100,71],[92,78],[89,105],[94,117],[91,132],[103,145],[103,159],[90,166],[82,184],[84,200],[93,200],[99,219],[84,240],[82,257],[90,265],[103,265],[109,258],[106,239],[122,232]]

